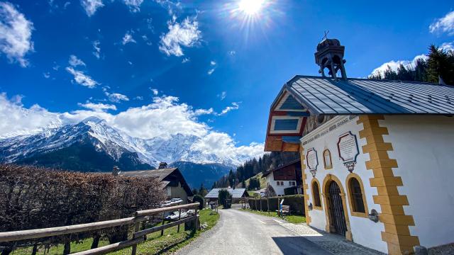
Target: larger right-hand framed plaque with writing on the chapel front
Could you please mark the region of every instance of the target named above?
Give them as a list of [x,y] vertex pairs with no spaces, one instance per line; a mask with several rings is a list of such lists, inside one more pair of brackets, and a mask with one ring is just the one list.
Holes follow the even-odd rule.
[[356,157],[360,154],[356,135],[352,132],[346,132],[339,136],[338,140],[339,159],[342,160],[348,171],[353,172],[356,165]]

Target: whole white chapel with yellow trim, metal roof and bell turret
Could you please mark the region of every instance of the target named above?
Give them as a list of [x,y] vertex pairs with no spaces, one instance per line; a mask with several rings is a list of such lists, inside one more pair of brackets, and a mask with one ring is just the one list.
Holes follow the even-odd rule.
[[389,254],[453,243],[454,86],[350,79],[343,55],[320,42],[321,77],[270,109],[265,151],[300,152],[307,224]]

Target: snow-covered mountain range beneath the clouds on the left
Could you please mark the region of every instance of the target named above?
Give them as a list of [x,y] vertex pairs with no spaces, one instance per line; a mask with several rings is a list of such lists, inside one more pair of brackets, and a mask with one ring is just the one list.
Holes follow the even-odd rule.
[[105,120],[90,117],[35,135],[0,140],[0,163],[35,164],[74,171],[111,171],[114,165],[123,170],[146,169],[159,162],[173,163],[180,168],[188,166],[188,169],[191,165],[190,169],[194,169],[194,164],[203,164],[204,169],[214,169],[211,177],[215,178],[248,159],[247,155],[226,156],[201,151],[196,146],[199,142],[201,137],[182,134],[152,139],[131,137],[109,126]]

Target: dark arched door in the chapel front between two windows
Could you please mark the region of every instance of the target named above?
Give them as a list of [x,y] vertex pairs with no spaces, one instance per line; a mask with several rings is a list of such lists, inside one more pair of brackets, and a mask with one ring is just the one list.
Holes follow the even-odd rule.
[[336,181],[331,181],[328,184],[328,203],[331,216],[330,228],[333,232],[345,236],[347,232],[347,222],[345,222],[345,208],[341,197],[341,188]]

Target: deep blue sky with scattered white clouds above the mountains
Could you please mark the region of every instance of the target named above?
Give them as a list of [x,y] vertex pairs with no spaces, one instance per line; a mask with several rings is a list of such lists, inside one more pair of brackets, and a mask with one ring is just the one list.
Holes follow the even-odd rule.
[[339,3],[0,1],[0,132],[99,115],[133,136],[182,128],[250,147],[282,84],[318,75],[324,30],[345,45],[348,77],[453,47],[452,1]]

